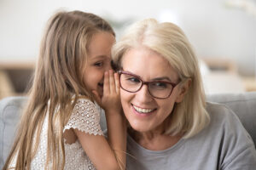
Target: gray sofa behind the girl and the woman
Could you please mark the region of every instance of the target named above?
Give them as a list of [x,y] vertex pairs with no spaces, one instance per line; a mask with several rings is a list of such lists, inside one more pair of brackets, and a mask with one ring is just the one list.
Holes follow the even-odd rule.
[[[214,94],[207,101],[228,105],[240,118],[241,123],[256,144],[256,92],[243,94]],[[20,119],[20,111],[26,102],[25,97],[9,97],[0,100],[0,168],[6,160],[15,137],[15,129]],[[106,128],[104,115],[101,117],[102,129]]]

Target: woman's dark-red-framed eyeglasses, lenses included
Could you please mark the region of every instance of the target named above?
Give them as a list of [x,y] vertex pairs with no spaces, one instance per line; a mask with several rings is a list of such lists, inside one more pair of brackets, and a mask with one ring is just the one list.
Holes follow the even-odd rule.
[[150,81],[144,82],[137,75],[131,74],[126,71],[119,72],[120,87],[127,92],[136,93],[143,85],[148,86],[148,93],[156,99],[166,99],[172,94],[172,89],[177,86],[177,84],[166,81]]

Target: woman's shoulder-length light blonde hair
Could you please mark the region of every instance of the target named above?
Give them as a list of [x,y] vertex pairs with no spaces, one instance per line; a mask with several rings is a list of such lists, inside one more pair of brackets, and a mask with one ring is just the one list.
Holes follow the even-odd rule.
[[131,48],[146,47],[167,59],[182,82],[191,79],[188,93],[177,103],[165,123],[166,134],[183,134],[189,138],[207,126],[210,118],[206,111],[205,93],[195,53],[176,25],[159,23],[154,19],[139,21],[126,31],[112,49],[113,63],[122,68],[122,57]]

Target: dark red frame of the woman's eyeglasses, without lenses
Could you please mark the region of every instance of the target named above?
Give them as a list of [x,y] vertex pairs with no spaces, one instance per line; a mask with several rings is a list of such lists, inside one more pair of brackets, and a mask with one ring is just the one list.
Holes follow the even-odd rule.
[[151,83],[151,82],[164,82],[164,83],[167,83],[167,84],[171,84],[171,85],[172,85],[172,90],[171,90],[170,94],[169,94],[166,98],[155,97],[153,94],[150,93],[150,90],[149,90],[149,88],[148,88],[148,94],[150,94],[150,95],[151,95],[152,97],[154,97],[155,99],[167,99],[167,98],[169,98],[169,97],[171,96],[171,94],[172,94],[173,88],[175,88],[175,87],[177,86],[177,84],[179,84],[179,82],[173,83],[173,82],[167,82],[167,81],[149,81],[149,82],[146,82],[146,81],[143,81],[143,79],[142,79],[141,77],[139,77],[139,76],[137,76],[137,75],[135,75],[135,74],[132,74],[131,72],[128,72],[128,71],[118,71],[118,73],[119,73],[119,80],[121,80],[121,79],[120,79],[121,74],[126,74],[126,75],[130,75],[130,76],[132,76],[132,77],[137,77],[137,78],[142,82],[141,87],[138,88],[136,91],[129,91],[129,90],[126,90],[125,88],[122,87],[122,83],[121,83],[121,81],[120,81],[120,88],[122,88],[122,89],[125,90],[126,92],[130,92],[130,93],[137,93],[138,91],[140,91],[141,88],[143,88],[143,85],[144,85],[144,84],[147,85],[147,87],[148,87],[148,84]]

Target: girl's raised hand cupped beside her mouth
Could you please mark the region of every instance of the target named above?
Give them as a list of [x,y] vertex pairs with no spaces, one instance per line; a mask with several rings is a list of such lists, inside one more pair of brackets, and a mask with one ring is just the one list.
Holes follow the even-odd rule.
[[104,73],[104,85],[102,99],[96,90],[92,91],[96,102],[108,113],[116,113],[122,110],[119,94],[119,75],[113,70]]

